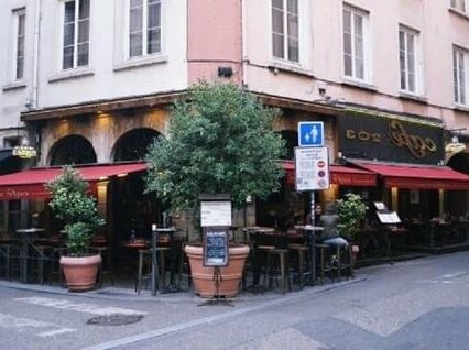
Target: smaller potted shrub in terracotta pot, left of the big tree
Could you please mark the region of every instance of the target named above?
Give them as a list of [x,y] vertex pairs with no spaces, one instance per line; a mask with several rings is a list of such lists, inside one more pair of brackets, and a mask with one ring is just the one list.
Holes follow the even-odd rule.
[[90,252],[95,230],[105,223],[98,215],[96,199],[88,194],[89,184],[72,166],[46,184],[48,203],[56,218],[64,222],[67,253],[61,256],[61,269],[69,291],[95,287],[101,256]]

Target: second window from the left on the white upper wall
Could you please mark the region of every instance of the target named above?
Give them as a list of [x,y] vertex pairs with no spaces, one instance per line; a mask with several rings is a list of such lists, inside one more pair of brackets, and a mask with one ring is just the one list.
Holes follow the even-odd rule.
[[64,4],[63,69],[89,63],[89,2],[72,0]]

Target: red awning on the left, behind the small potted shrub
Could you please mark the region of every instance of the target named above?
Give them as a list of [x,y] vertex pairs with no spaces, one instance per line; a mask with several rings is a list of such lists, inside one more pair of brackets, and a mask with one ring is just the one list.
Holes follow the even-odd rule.
[[[146,169],[145,163],[96,164],[75,167],[87,182],[95,183],[116,175]],[[62,167],[32,168],[0,176],[0,200],[21,198],[47,198],[50,193],[44,184],[56,177]]]

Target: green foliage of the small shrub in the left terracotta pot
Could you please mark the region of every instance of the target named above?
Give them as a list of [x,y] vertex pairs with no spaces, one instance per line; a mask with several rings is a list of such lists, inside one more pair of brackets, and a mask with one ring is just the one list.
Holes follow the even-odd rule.
[[65,223],[66,245],[72,256],[83,256],[89,251],[92,233],[105,220],[98,215],[96,199],[88,195],[89,184],[72,166],[48,182],[52,194],[48,203],[56,218]]

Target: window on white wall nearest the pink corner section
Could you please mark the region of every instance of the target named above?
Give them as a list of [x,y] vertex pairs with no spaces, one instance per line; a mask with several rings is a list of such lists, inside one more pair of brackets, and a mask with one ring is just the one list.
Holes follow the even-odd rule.
[[130,0],[129,57],[161,53],[161,1]]

